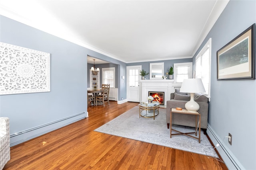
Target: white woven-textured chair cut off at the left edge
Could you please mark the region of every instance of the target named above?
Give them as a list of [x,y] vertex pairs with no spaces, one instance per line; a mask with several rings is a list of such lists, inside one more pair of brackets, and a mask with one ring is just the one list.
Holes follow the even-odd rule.
[[8,117],[0,117],[0,170],[10,160],[10,124]]

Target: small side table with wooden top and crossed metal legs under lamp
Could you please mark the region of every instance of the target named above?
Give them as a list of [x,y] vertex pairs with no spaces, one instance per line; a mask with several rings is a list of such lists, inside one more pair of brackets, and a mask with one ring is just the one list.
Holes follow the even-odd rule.
[[[191,135],[188,135],[188,134],[196,134],[197,136],[197,130],[195,132],[188,132],[188,133],[183,133],[183,132],[180,132],[180,131],[177,131],[175,129],[172,129],[172,113],[179,113],[179,114],[188,114],[188,115],[196,115],[196,129],[197,129],[197,116],[199,116],[199,134],[198,134],[198,138],[197,137],[194,137],[194,136],[191,136]],[[194,139],[198,139],[198,142],[200,143],[200,135],[201,135],[201,115],[200,113],[198,112],[189,112],[187,111],[186,109],[182,109],[182,110],[176,110],[175,108],[172,108],[171,109],[171,112],[170,112],[170,137],[172,138],[172,135],[186,135],[186,136],[189,136],[189,137],[192,137]],[[172,134],[172,131],[175,131],[175,132],[178,132],[178,133],[174,133]]]

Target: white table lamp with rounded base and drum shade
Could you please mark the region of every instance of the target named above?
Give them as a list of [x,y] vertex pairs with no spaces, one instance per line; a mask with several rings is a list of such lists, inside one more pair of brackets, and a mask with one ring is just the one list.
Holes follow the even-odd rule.
[[194,101],[194,94],[205,92],[201,78],[184,79],[180,88],[180,92],[190,93],[190,101],[185,104],[185,108],[189,112],[198,111],[199,105]]

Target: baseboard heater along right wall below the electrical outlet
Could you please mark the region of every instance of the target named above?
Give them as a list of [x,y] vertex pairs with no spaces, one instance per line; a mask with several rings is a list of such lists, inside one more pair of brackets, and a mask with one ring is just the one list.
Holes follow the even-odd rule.
[[212,129],[212,127],[208,124],[207,127],[207,135],[211,139],[212,143],[216,146],[216,144],[219,144],[220,146],[216,147],[218,150],[220,156],[224,160],[226,166],[230,170],[238,169],[238,170],[244,170],[245,168],[242,166],[242,164],[237,160],[237,158],[232,154],[230,149],[223,143],[223,139],[220,139],[218,135],[216,135],[216,132]]

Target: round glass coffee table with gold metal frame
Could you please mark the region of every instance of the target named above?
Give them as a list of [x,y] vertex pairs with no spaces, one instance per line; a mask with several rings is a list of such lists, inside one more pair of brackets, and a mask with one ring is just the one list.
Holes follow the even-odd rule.
[[154,102],[152,104],[148,104],[147,102],[142,102],[139,105],[139,114],[141,117],[145,118],[152,118],[155,117],[159,114],[159,107],[160,103],[159,102]]

